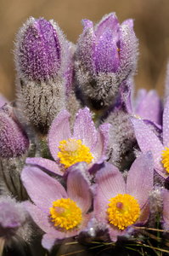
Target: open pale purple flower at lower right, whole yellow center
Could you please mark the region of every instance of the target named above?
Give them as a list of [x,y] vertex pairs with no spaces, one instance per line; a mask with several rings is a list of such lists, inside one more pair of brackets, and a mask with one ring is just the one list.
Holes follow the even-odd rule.
[[108,163],[96,174],[94,216],[104,224],[111,241],[125,234],[131,225],[149,218],[149,192],[153,189],[153,161],[150,153],[136,159],[125,183],[121,172]]

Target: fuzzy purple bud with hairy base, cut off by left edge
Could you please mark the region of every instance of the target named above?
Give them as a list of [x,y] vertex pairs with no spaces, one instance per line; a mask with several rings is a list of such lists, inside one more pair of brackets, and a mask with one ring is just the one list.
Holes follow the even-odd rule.
[[16,118],[14,108],[6,104],[0,108],[0,191],[1,195],[27,198],[20,182],[20,172],[28,154],[29,139]]

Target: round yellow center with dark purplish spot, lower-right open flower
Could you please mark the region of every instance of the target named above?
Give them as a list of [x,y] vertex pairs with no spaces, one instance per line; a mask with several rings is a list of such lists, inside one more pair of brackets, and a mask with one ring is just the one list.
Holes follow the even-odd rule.
[[109,201],[107,212],[110,224],[114,224],[119,230],[124,230],[138,219],[140,207],[134,196],[118,194]]

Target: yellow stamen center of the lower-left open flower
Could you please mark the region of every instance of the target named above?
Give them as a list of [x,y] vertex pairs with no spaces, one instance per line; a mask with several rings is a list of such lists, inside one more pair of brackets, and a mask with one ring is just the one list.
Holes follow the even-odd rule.
[[80,224],[82,220],[82,211],[76,206],[76,202],[70,198],[61,198],[53,202],[50,208],[51,218],[55,226],[70,230]]

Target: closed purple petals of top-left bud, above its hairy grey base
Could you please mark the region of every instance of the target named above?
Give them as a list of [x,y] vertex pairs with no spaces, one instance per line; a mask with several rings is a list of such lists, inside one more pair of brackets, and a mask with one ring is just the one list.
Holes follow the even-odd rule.
[[61,49],[52,22],[33,17],[26,21],[17,37],[15,61],[21,78],[41,81],[56,76]]

